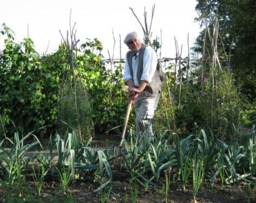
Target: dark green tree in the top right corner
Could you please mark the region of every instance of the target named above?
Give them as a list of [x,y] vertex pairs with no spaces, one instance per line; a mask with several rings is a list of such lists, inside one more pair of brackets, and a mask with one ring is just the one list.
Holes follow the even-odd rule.
[[[219,22],[219,42],[222,49],[219,50],[220,59],[231,60],[231,63],[222,64],[230,67],[234,72],[236,85],[247,98],[254,100],[256,97],[256,2],[254,0],[197,0],[196,11],[200,17],[196,21],[205,22],[212,18],[212,13],[217,13]],[[204,29],[197,37],[194,51],[202,52],[204,41]],[[212,25],[207,24],[211,29]],[[209,45],[206,38],[206,44]],[[207,49],[211,56],[211,50]],[[229,66],[230,65],[230,66]]]

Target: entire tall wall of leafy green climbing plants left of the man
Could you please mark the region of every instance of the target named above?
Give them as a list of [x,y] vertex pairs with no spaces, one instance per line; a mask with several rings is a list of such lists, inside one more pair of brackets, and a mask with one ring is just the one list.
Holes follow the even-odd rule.
[[[31,38],[16,43],[8,26],[3,24],[0,29],[6,38],[0,52],[0,112],[6,134],[16,131],[11,119],[19,132],[51,124],[42,132],[46,133],[59,124],[62,134],[65,126],[61,119],[73,127],[80,140],[89,139],[94,131],[120,125],[127,100],[123,63],[115,64],[114,71],[107,69],[98,39],[87,39],[74,52],[62,43],[56,52],[40,56]],[[73,66],[68,65],[70,53]]]

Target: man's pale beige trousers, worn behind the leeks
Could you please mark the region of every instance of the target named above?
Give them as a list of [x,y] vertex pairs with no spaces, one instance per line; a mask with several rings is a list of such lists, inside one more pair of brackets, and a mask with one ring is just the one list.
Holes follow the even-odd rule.
[[144,133],[146,138],[150,141],[153,136],[152,132],[152,119],[155,115],[158,100],[161,90],[156,92],[155,97],[148,97],[142,92],[135,100],[135,112],[136,112],[136,136]]

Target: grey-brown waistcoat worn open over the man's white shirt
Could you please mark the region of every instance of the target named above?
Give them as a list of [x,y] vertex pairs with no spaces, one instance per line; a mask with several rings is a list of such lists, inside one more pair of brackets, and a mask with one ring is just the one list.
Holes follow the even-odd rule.
[[[144,56],[144,52],[146,49],[146,45],[142,44],[142,48],[139,51],[139,60],[138,60],[138,69],[137,69],[137,79],[140,85],[141,82],[141,78],[142,78],[142,73],[143,73],[143,56]],[[130,67],[130,73],[131,73],[131,77],[133,80],[133,70],[132,70],[132,52],[128,51],[126,53],[127,56],[127,60],[128,60],[128,65]],[[161,79],[157,73],[157,71],[155,71],[152,81],[151,83],[149,83],[148,85],[146,85],[145,89],[144,89],[144,94],[148,97],[154,97],[156,94],[156,91],[159,91],[161,89]]]

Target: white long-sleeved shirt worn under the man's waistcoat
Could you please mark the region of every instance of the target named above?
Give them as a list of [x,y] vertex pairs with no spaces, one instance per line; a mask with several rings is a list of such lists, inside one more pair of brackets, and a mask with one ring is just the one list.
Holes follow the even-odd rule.
[[[139,61],[139,51],[136,53],[137,57],[132,57],[132,71],[133,71],[133,85],[139,86],[139,82],[137,79],[137,69],[138,69],[138,61]],[[136,59],[135,59],[136,58]],[[151,83],[153,75],[156,71],[157,66],[157,55],[155,50],[151,48],[151,46],[147,46],[143,56],[143,72],[140,80],[146,80],[148,83]],[[125,67],[124,67],[124,80],[132,79],[130,73],[130,67],[128,64],[127,57],[125,57]]]

